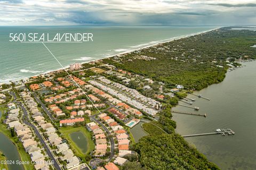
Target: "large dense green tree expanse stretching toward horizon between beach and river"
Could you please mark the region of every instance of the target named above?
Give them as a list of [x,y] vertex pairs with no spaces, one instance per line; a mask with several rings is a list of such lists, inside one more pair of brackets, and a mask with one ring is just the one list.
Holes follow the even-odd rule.
[[[125,55],[120,62],[111,58],[105,61],[118,69],[162,81],[166,87],[182,84],[188,90],[201,90],[225,78],[227,58],[234,62],[235,58],[256,57],[256,48],[250,47],[255,44],[255,34],[255,31],[221,28],[141,49],[139,54]],[[136,59],[138,55],[154,57],[156,60],[139,60]]]

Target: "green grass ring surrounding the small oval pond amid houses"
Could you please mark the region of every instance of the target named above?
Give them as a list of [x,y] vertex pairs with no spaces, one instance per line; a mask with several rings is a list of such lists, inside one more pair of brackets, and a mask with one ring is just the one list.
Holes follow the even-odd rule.
[[92,140],[92,135],[89,131],[87,131],[86,128],[84,127],[78,127],[78,128],[74,128],[72,126],[68,126],[68,127],[62,127],[60,128],[60,132],[64,135],[64,138],[66,138],[69,142],[69,145],[71,147],[71,149],[74,151],[74,153],[78,156],[83,158],[85,156],[85,154],[82,152],[82,150],[76,145],[76,143],[71,139],[70,137],[70,133],[73,132],[77,132],[77,131],[81,131],[83,132],[83,134],[85,135],[85,137],[87,138],[87,152],[86,154],[89,154],[91,151],[94,150],[94,142]]

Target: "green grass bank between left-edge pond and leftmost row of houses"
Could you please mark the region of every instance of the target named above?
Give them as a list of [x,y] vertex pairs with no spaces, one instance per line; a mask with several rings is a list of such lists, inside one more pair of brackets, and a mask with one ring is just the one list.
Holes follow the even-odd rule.
[[[0,132],[3,133],[4,135],[6,135],[6,137],[9,138],[14,143],[14,145],[17,147],[21,161],[31,162],[31,158],[29,157],[29,155],[23,148],[22,143],[19,141],[19,139],[17,137],[12,137],[11,132],[9,130],[7,130],[7,126],[2,123],[5,118],[4,111],[6,111],[6,109],[7,108],[5,108],[5,107],[0,107],[0,111],[2,111],[2,116],[1,116],[1,120],[0,120]],[[34,169],[34,166],[32,164],[23,165],[23,167],[25,170]]]

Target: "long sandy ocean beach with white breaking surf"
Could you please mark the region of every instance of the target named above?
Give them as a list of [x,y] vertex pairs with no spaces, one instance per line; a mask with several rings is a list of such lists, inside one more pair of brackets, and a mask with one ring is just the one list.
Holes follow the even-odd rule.
[[[86,61],[86,62],[77,62],[79,64],[85,64],[85,63],[89,63],[89,62],[94,62],[94,61],[98,61],[98,60],[102,60],[102,59],[105,59],[105,58],[110,58],[110,57],[114,57],[114,56],[118,56],[118,55],[123,55],[123,54],[129,54],[129,53],[132,53],[136,50],[141,50],[141,49],[145,49],[145,48],[149,48],[149,47],[153,47],[153,46],[156,46],[158,44],[164,44],[164,43],[169,43],[171,41],[174,41],[174,40],[178,40],[178,39],[182,39],[182,38],[188,38],[188,37],[192,37],[192,36],[196,36],[196,35],[201,35],[203,33],[206,33],[206,32],[210,32],[210,31],[213,31],[213,30],[217,30],[217,29],[220,29],[222,27],[218,27],[218,28],[214,28],[214,29],[210,29],[210,30],[206,30],[206,31],[201,31],[201,32],[196,32],[196,33],[190,33],[188,35],[184,35],[184,36],[179,36],[179,37],[172,37],[172,38],[168,38],[168,39],[164,39],[164,40],[157,40],[155,41],[156,43],[154,44],[151,44],[151,45],[147,45],[147,46],[144,46],[144,47],[139,47],[139,48],[135,48],[135,49],[131,49],[131,50],[126,50],[124,52],[121,52],[121,53],[117,53],[117,54],[113,54],[113,55],[109,55],[109,56],[106,56],[106,57],[101,57],[101,58],[97,58],[95,60],[90,60],[90,61]],[[154,42],[154,41],[151,41],[151,42]],[[150,43],[150,42],[149,42]],[[147,43],[148,44],[148,43]],[[140,44],[139,44],[140,45]],[[139,46],[139,45],[134,45],[134,46]],[[74,63],[74,62],[73,62]],[[71,64],[71,63],[70,63]],[[68,69],[69,68],[69,65],[68,66],[65,66],[64,69]],[[34,74],[34,75],[31,75],[30,77],[25,77],[25,78],[17,78],[17,79],[12,79],[12,80],[6,80],[6,81],[2,81],[0,82],[0,85],[1,84],[5,84],[5,83],[9,83],[9,82],[12,82],[12,81],[21,81],[23,79],[28,79],[28,78],[31,78],[31,77],[34,77],[34,76],[38,76],[38,75],[44,75],[44,74],[47,74],[47,73],[50,73],[50,72],[56,72],[56,71],[59,71],[59,70],[63,70],[63,68],[60,68],[60,69],[56,69],[56,70],[49,70],[49,71],[45,71],[45,72],[42,72],[42,73],[39,73],[39,74]]]

